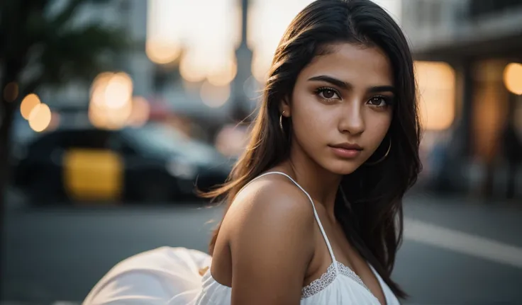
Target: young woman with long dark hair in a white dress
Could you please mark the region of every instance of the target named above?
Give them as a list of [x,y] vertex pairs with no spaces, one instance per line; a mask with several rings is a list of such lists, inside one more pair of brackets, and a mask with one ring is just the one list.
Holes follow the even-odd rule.
[[245,154],[207,194],[227,202],[211,260],[142,253],[86,304],[399,304],[390,275],[419,134],[399,26],[369,0],[313,2],[277,47]]

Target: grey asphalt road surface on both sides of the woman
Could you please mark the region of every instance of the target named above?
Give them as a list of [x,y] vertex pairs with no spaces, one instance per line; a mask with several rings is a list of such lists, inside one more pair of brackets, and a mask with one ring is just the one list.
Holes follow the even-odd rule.
[[[405,304],[522,304],[522,206],[411,195],[394,280]],[[160,246],[206,250],[221,208],[11,207],[7,300],[82,301],[114,264]],[[450,234],[450,236],[445,236]],[[489,247],[489,249],[488,249]],[[496,247],[496,248],[495,248]]]

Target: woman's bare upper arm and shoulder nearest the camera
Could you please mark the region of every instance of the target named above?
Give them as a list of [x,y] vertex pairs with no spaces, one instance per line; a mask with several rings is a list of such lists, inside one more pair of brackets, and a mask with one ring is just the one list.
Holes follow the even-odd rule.
[[232,304],[299,304],[313,255],[308,198],[293,185],[268,182],[230,212]]

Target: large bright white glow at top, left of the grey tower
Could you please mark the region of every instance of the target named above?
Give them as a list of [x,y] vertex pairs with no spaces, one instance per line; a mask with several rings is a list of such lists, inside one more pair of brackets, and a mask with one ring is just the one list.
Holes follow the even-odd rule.
[[[191,0],[180,5],[174,0],[149,0],[148,57],[157,63],[172,62],[182,43],[179,73],[185,81],[199,83],[208,79],[215,86],[229,84],[237,72],[239,3]],[[201,22],[194,22],[194,18]]]

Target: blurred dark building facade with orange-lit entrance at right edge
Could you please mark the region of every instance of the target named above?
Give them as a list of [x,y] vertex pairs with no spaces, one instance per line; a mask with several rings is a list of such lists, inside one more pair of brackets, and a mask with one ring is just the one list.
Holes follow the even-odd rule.
[[[510,161],[522,155],[515,143],[522,134],[522,100],[506,83],[519,88],[522,76],[506,79],[506,67],[522,62],[522,1],[403,0],[402,16],[414,58],[455,69],[445,175],[458,178],[446,180],[448,188],[484,195],[514,185],[520,189],[521,163]],[[509,128],[516,137],[506,138]],[[514,175],[506,173],[513,167]],[[514,185],[506,187],[510,179]]]

